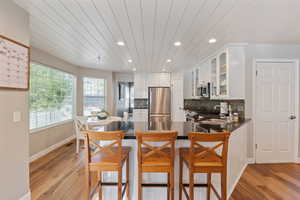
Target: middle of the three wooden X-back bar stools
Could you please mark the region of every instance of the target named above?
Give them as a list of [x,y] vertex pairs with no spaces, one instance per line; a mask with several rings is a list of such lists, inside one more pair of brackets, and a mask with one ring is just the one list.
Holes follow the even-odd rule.
[[[174,158],[177,132],[137,132],[138,140],[138,200],[143,187],[167,187],[168,200],[174,199]],[[163,142],[163,145],[157,144]],[[149,144],[151,143],[151,144]],[[156,146],[153,146],[154,144]],[[167,173],[167,184],[143,183],[143,173]]]

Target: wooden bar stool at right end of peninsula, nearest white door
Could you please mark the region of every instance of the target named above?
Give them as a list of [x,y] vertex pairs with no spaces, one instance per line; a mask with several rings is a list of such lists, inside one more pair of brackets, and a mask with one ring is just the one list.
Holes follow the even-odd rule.
[[[227,152],[229,132],[219,133],[189,133],[190,148],[180,148],[180,175],[179,175],[179,199],[182,199],[182,191],[188,200],[194,200],[194,187],[207,187],[207,200],[210,199],[210,189],[214,191],[218,199],[227,198]],[[206,147],[202,143],[217,143],[213,147]],[[219,155],[216,150],[221,148]],[[189,184],[184,184],[183,163],[189,170]],[[207,173],[207,184],[194,184],[195,173]],[[211,174],[221,174],[221,196],[211,183]],[[189,193],[185,187],[189,187]]]

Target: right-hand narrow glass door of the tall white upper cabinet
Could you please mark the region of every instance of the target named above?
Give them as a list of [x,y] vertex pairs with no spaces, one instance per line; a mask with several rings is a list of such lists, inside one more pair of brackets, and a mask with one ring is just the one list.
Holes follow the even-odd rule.
[[227,53],[222,52],[218,56],[218,79],[219,79],[219,95],[228,96],[228,62],[227,62]]

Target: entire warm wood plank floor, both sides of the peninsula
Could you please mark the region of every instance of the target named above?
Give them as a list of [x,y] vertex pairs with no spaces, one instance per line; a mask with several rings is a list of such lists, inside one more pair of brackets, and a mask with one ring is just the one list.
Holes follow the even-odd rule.
[[[32,200],[81,200],[83,181],[83,155],[74,142],[30,164]],[[264,199],[300,199],[300,165],[249,165],[231,200]]]

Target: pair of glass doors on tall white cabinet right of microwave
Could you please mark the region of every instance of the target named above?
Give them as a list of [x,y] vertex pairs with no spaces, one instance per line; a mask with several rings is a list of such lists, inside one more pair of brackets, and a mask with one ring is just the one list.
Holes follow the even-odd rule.
[[223,51],[211,59],[211,97],[228,96],[227,52]]

